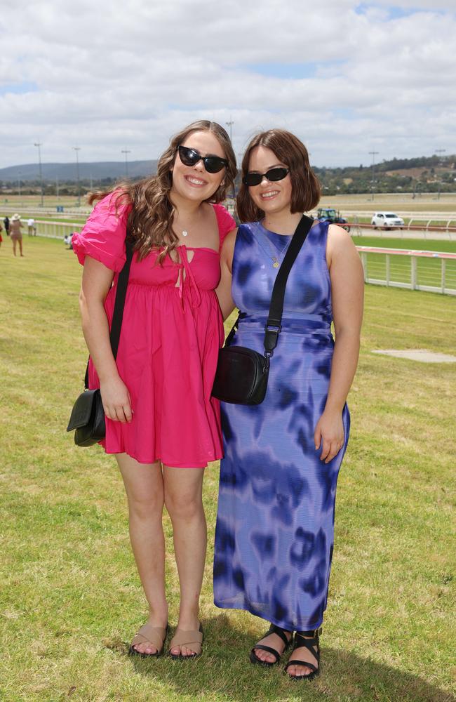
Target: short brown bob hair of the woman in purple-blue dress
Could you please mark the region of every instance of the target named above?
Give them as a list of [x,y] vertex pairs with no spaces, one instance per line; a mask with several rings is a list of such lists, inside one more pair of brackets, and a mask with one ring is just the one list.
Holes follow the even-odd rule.
[[[274,151],[281,163],[290,168],[291,213],[309,212],[318,204],[321,188],[309,164],[307,149],[294,134],[284,129],[269,129],[253,137],[242,159],[241,178],[248,173],[250,153],[257,146]],[[236,208],[241,222],[257,222],[264,212],[255,205],[248,192],[248,185],[241,184],[236,199]]]

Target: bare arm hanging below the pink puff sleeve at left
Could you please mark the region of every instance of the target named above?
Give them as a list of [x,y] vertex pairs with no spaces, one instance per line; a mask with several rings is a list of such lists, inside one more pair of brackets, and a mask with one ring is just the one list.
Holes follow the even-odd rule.
[[109,419],[130,422],[132,410],[126,385],[117,371],[109,341],[109,324],[105,299],[112,286],[114,272],[86,256],[82,274],[79,307],[84,338],[100,378],[100,392],[105,414]]

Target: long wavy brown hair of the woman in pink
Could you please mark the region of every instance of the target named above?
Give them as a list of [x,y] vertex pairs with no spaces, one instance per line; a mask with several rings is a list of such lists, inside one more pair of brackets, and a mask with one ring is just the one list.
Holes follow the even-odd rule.
[[236,157],[227,132],[220,124],[208,119],[192,122],[171,138],[168,149],[161,155],[157,164],[156,176],[147,176],[137,183],[123,181],[112,190],[88,194],[89,204],[116,192],[116,209],[119,206],[132,206],[127,220],[127,236],[134,242],[133,248],[138,252],[138,260],[145,258],[153,249],[163,248],[158,259],[159,263],[162,263],[167,254],[177,246],[177,235],[173,231],[175,207],[169,196],[173,185],[173,173],[170,168],[174,164],[177,147],[195,131],[212,132],[228,161],[222,183],[207,200],[212,203],[222,202],[227,197],[228,190],[234,187]]

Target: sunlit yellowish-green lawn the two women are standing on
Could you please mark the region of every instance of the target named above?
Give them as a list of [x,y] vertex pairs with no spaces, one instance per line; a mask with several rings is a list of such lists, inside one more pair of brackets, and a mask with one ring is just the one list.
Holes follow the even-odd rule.
[[[61,241],[0,249],[2,702],[455,702],[456,366],[373,355],[454,353],[455,300],[366,286],[322,674],[289,681],[248,663],[264,626],[212,604],[217,465],[205,477],[209,549],[198,661],[126,655],[146,616],[121,479],[65,427],[86,349],[81,268]],[[165,519],[168,550],[171,528]],[[173,557],[170,623],[177,616]]]

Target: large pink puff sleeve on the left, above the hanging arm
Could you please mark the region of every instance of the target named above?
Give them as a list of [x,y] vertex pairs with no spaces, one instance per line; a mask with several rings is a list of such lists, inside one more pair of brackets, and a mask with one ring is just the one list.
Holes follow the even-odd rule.
[[81,265],[84,265],[86,256],[90,256],[115,272],[122,270],[126,261],[126,225],[131,205],[119,201],[116,209],[118,195],[119,191],[112,192],[100,200],[81,234],[73,234],[73,251]]

